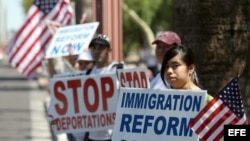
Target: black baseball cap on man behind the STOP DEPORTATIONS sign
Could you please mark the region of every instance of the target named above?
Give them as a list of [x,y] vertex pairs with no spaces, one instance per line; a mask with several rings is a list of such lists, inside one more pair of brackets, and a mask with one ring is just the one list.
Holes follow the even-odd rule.
[[94,44],[101,44],[110,47],[110,40],[105,34],[96,34],[90,42],[90,46],[93,46]]

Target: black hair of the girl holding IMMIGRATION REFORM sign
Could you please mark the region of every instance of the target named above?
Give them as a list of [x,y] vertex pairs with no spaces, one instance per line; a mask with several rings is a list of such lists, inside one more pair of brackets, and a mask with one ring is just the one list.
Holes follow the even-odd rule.
[[[194,53],[192,51],[191,48],[186,47],[184,45],[174,45],[173,47],[171,47],[164,55],[163,57],[163,61],[162,61],[162,66],[161,66],[161,79],[164,82],[164,84],[166,84],[165,82],[165,78],[164,78],[164,73],[165,70],[167,68],[168,65],[168,61],[175,57],[176,55],[180,54],[181,55],[181,59],[183,60],[183,62],[185,62],[185,64],[187,66],[190,66],[192,64],[195,64],[195,57],[194,57]],[[196,85],[199,85],[199,80],[197,77],[197,73],[196,71],[194,71],[192,73],[192,80]]]

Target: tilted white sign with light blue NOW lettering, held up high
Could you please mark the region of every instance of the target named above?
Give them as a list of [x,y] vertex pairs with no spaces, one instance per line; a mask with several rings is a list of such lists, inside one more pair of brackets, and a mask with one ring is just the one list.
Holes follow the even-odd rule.
[[99,22],[63,26],[57,29],[46,51],[46,58],[75,55],[89,47]]

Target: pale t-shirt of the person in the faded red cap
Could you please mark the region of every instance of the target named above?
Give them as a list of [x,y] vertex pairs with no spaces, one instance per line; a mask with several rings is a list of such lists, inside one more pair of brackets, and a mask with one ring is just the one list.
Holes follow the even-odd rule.
[[163,83],[160,73],[158,73],[150,82],[150,89],[164,90],[166,88],[170,89],[171,87],[168,83],[166,85]]

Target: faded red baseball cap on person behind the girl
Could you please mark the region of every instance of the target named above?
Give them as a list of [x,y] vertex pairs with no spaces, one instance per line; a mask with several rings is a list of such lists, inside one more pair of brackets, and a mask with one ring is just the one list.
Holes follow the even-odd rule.
[[159,36],[156,37],[155,41],[153,41],[152,44],[156,44],[157,42],[163,42],[169,45],[172,44],[181,45],[181,38],[175,32],[164,31],[160,33]]

